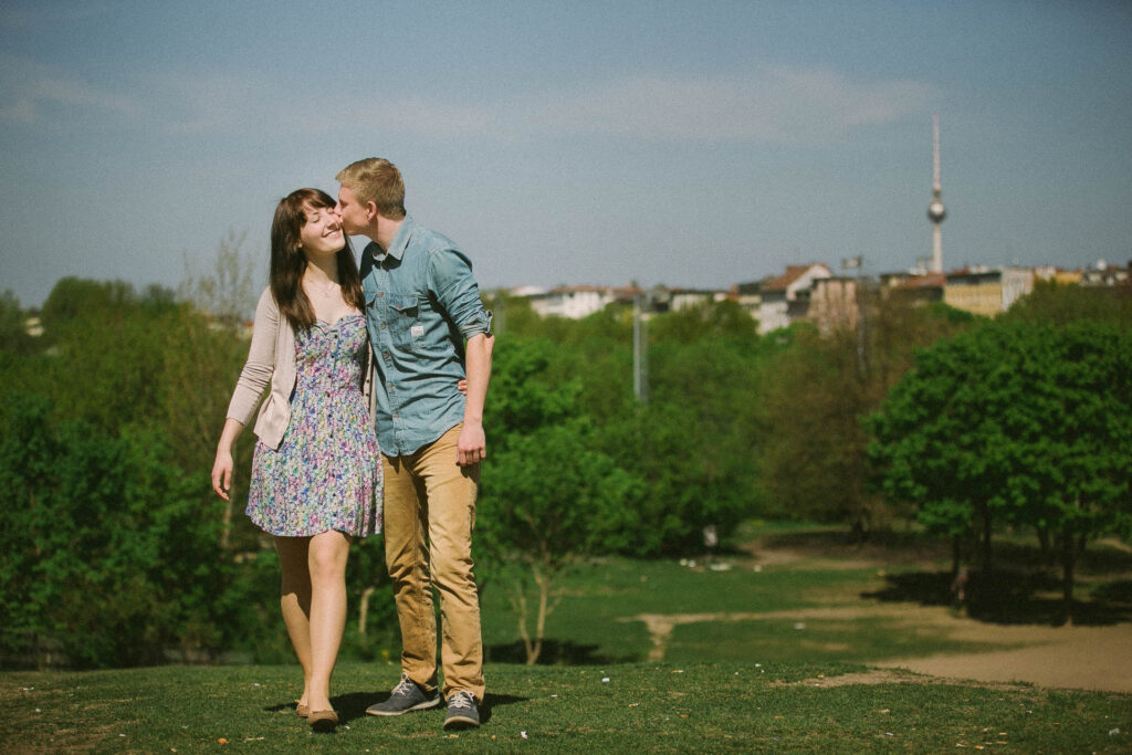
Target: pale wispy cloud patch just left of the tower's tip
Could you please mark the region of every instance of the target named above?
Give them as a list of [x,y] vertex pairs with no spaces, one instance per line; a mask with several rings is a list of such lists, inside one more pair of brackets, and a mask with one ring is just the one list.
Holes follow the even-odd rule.
[[935,89],[909,80],[858,81],[829,70],[767,68],[740,76],[632,77],[535,104],[537,129],[644,139],[823,139],[923,109]]

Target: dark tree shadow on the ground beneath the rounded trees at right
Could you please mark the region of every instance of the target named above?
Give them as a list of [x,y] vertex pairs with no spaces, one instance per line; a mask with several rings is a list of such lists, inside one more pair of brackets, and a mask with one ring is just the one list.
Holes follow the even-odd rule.
[[[886,585],[861,598],[882,602],[914,602],[921,606],[963,608],[967,616],[987,624],[1065,623],[1065,604],[1061,599],[1061,581],[1047,572],[1028,572],[1002,567],[989,577],[970,575],[967,600],[960,604],[951,591],[947,572],[909,572],[885,576]],[[1132,620],[1132,583],[1114,582],[1094,591],[1090,601],[1073,603],[1073,623],[1104,626]],[[1080,590],[1080,587],[1079,587]],[[1053,593],[1056,597],[1050,597]]]

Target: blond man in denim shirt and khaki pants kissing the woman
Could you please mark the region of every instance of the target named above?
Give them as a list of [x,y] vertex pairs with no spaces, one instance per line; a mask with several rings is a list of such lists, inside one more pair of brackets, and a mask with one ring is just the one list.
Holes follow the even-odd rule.
[[[468,257],[405,213],[393,163],[370,157],[337,174],[337,211],[361,255],[375,371],[377,437],[385,465],[385,558],[401,623],[401,681],[372,715],[435,707],[440,597],[445,728],[479,726],[483,701],[480,608],[472,526],[483,401],[491,376],[491,315]],[[466,398],[456,388],[466,376]]]

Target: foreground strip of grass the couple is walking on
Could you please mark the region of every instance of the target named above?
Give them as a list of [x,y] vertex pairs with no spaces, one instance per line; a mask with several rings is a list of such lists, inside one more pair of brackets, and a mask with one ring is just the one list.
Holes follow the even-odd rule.
[[334,704],[343,723],[334,735],[314,735],[293,714],[299,692],[294,667],[17,672],[0,676],[6,711],[0,741],[6,752],[146,753],[1087,753],[1127,752],[1132,743],[1129,695],[897,680],[825,686],[831,676],[861,669],[813,663],[492,664],[487,669],[484,724],[448,733],[440,728],[439,710],[367,717],[366,706],[396,681],[397,669],[346,663],[335,677],[341,694]]

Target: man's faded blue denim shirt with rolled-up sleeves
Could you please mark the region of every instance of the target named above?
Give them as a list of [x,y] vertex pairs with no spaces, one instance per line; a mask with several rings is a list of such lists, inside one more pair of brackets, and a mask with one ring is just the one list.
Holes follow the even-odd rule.
[[406,215],[386,251],[361,255],[374,351],[374,420],[386,456],[404,456],[464,419],[464,342],[491,332],[472,263]]

